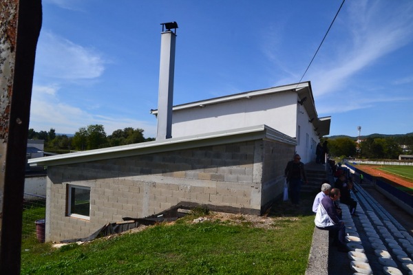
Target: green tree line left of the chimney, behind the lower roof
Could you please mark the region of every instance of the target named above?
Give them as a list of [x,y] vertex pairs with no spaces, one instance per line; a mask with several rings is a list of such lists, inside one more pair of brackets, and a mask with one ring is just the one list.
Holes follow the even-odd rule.
[[56,135],[53,128],[48,132],[36,132],[34,129],[29,129],[28,138],[30,140],[44,140],[45,151],[68,153],[155,140],[153,137],[145,138],[143,131],[139,128],[127,127],[114,131],[112,135],[107,135],[103,125],[94,124],[79,128],[72,137]]

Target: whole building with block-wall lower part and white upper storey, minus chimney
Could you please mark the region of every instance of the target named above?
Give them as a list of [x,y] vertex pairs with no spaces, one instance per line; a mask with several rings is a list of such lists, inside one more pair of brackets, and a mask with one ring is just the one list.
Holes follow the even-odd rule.
[[30,159],[47,166],[46,241],[83,238],[178,205],[262,214],[282,195],[294,153],[310,162],[319,135],[329,133],[310,83],[202,104],[173,107],[169,139]]

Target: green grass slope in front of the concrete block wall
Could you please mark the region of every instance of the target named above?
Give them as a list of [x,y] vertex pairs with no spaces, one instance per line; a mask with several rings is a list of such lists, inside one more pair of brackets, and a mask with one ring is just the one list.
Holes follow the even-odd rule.
[[304,274],[313,237],[313,194],[301,208],[273,205],[270,229],[211,220],[205,213],[53,249],[23,239],[21,274]]

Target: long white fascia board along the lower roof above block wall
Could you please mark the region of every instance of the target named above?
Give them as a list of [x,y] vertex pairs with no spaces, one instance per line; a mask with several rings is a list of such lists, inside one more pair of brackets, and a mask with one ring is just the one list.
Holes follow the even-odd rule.
[[170,138],[167,140],[100,148],[76,153],[53,155],[50,157],[37,157],[28,159],[28,164],[30,164],[30,166],[56,166],[258,139],[276,140],[293,145],[297,144],[293,137],[284,135],[266,125],[258,125],[240,129],[231,129],[229,131],[218,131],[187,137]]

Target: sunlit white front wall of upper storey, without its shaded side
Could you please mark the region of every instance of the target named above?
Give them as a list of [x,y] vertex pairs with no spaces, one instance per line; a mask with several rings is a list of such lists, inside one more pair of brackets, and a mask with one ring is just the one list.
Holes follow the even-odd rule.
[[279,93],[173,111],[172,137],[266,124],[296,135],[297,94]]

